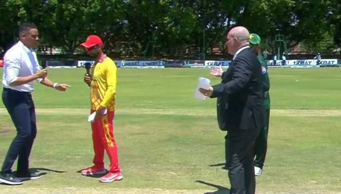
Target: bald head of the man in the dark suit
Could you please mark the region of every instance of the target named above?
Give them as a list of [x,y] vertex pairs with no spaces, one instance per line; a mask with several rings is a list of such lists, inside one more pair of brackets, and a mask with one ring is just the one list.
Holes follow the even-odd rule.
[[249,32],[245,27],[238,26],[232,28],[226,37],[227,51],[234,55],[238,49],[248,46]]

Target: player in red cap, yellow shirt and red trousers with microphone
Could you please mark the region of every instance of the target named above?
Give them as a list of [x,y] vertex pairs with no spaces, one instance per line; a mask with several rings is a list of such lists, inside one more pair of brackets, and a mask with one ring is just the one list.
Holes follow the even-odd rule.
[[[90,86],[91,113],[96,112],[91,127],[93,131],[94,165],[81,171],[82,175],[100,175],[106,173],[104,168],[104,150],[110,159],[109,173],[99,178],[100,182],[113,182],[123,178],[118,167],[117,147],[114,140],[113,120],[116,93],[116,65],[103,51],[102,40],[96,35],[90,35],[82,47],[95,58],[91,74],[86,74],[84,81]],[[107,113],[104,114],[104,110]]]

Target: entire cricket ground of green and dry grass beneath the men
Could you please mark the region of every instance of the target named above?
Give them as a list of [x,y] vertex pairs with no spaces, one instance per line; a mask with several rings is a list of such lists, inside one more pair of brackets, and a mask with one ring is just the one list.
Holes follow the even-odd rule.
[[[257,194],[341,194],[341,68],[269,73],[269,145]],[[1,194],[228,194],[215,100],[192,97],[198,77],[219,82],[208,69],[118,69],[114,135],[124,179],[109,184],[77,173],[93,158],[83,74],[49,69],[51,80],[73,86],[65,93],[35,83],[38,136],[30,167],[45,175],[21,186],[0,184]],[[15,135],[3,108],[0,102],[1,164]]]

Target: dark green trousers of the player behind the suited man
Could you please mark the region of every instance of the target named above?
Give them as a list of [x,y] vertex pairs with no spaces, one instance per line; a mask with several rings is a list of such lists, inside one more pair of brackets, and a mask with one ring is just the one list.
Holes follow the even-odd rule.
[[269,117],[270,117],[270,108],[265,109],[265,121],[266,127],[261,129],[256,142],[255,142],[255,161],[254,165],[263,169],[265,155],[266,155],[266,148],[267,148],[267,132],[269,129]]

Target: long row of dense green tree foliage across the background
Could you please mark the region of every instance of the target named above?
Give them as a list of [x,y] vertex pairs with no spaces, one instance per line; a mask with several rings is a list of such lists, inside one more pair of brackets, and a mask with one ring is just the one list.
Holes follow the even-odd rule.
[[[341,46],[341,7],[337,0],[0,0],[0,47],[17,40],[22,22],[38,25],[41,42],[73,53],[89,34],[105,47],[143,54],[148,44],[159,54],[200,52],[223,45],[233,26],[246,26],[274,47],[284,34],[288,48],[308,41],[316,48],[326,32]],[[205,36],[204,36],[205,31]],[[200,52],[201,53],[201,52]]]

